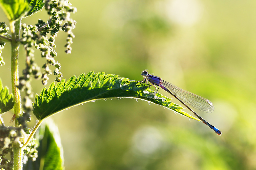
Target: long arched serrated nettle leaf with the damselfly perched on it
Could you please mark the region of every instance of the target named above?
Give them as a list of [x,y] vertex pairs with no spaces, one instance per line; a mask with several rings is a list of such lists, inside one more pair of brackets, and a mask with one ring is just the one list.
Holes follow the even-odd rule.
[[44,87],[40,96],[36,94],[33,103],[33,113],[38,120],[43,120],[64,109],[89,101],[108,98],[136,98],[161,105],[188,118],[199,119],[182,111],[183,107],[171,102],[170,98],[149,89],[149,85],[128,78],[118,78],[117,75],[94,71],[72,76],[65,82],[53,82],[48,90]]

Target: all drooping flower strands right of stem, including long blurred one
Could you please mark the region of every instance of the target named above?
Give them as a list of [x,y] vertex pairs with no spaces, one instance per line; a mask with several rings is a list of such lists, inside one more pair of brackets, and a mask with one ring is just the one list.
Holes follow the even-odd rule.
[[[66,53],[71,53],[72,38],[74,34],[72,30],[75,28],[76,21],[70,18],[70,14],[76,12],[75,7],[71,7],[71,4],[68,0],[46,0],[45,9],[49,15],[49,20],[44,22],[39,19],[38,23],[35,26],[23,24],[21,26],[21,38],[20,42],[24,45],[26,50],[26,68],[23,70],[23,76],[20,77],[19,89],[25,91],[24,103],[23,103],[23,114],[24,119],[20,122],[23,127],[26,127],[24,120],[29,120],[29,112],[32,110],[32,101],[33,97],[31,89],[31,79],[42,78],[42,84],[46,85],[48,81],[48,76],[52,74],[50,66],[54,66],[53,71],[54,75],[57,75],[56,81],[60,82],[61,77],[63,76],[60,72],[60,63],[55,61],[57,53],[54,48],[55,38],[57,33],[65,31],[68,33],[67,41],[65,44]],[[46,62],[43,64],[42,68],[44,69],[43,73],[40,72],[40,68],[35,63],[34,50],[33,48],[39,49],[41,51],[41,57],[46,59]]]

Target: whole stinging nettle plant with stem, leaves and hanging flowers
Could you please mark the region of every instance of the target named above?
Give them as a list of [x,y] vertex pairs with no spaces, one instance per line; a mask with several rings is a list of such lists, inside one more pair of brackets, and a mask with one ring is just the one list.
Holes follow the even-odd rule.
[[[41,123],[47,117],[64,109],[93,100],[141,99],[200,121],[182,111],[183,108],[172,103],[170,98],[151,91],[147,84],[141,84],[138,81],[119,78],[117,75],[104,72],[95,74],[93,71],[88,74],[83,73],[77,78],[72,76],[67,81],[61,79],[61,66],[55,61],[57,56],[54,50],[55,38],[60,31],[66,32],[65,52],[71,53],[72,39],[75,37],[72,30],[76,26],[76,21],[70,18],[70,15],[76,12],[76,8],[72,7],[68,0],[0,0],[0,6],[9,19],[8,26],[4,22],[0,23],[0,65],[5,64],[1,55],[4,45],[8,44],[11,46],[10,76],[12,80],[12,93],[9,93],[7,87],[3,88],[0,79],[0,114],[13,108],[14,115],[11,122],[15,122],[15,126],[7,127],[0,115],[0,168],[5,170],[30,169],[31,167],[63,169],[61,146],[56,142],[56,135],[54,135],[57,129],[52,123],[44,125]],[[22,18],[29,17],[43,8],[49,15],[47,21],[38,19],[38,23],[34,26],[21,24]],[[25,49],[26,53],[22,55],[26,56],[26,61],[22,75],[19,77],[20,48]],[[34,50],[40,50],[45,63],[36,63],[38,56],[34,56]],[[6,57],[8,56],[5,56],[5,59]],[[56,75],[56,84],[52,82],[48,89],[44,87],[40,95],[35,95],[35,101],[32,103],[33,93],[30,85],[32,79],[41,78],[42,84],[46,85],[49,80],[48,76],[52,74],[51,69]],[[21,91],[25,92],[22,98]],[[37,119],[33,129],[27,127],[31,114],[34,114]],[[40,125],[41,128],[38,129]],[[40,133],[40,136],[35,139],[36,132]],[[43,144],[41,142],[43,140],[49,142]]]

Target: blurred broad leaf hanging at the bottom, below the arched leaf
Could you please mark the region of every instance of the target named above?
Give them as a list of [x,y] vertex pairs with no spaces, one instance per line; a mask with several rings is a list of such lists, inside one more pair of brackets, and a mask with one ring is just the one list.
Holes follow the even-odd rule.
[[37,148],[38,157],[35,162],[28,160],[23,165],[23,170],[62,170],[63,168],[63,148],[60,143],[58,127],[52,120],[43,123],[35,134],[39,141]]

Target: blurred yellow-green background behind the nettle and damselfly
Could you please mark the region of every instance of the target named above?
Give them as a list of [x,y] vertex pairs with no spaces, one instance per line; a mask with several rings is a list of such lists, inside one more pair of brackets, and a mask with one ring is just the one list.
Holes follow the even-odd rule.
[[[215,111],[198,114],[222,136],[202,122],[145,101],[98,100],[52,116],[60,130],[66,170],[256,169],[256,1],[70,3],[77,7],[72,53],[64,53],[66,34],[56,38],[63,78],[94,70],[142,80],[141,70],[148,69],[211,100]],[[8,23],[3,11],[0,16]],[[22,22],[35,24],[38,18],[47,20],[46,12]],[[0,77],[10,88],[8,45]],[[21,74],[24,50],[20,54]],[[38,63],[44,61],[39,53],[35,57]],[[33,82],[35,93],[42,88],[40,81]],[[12,114],[4,118],[9,122]]]

